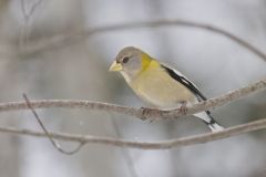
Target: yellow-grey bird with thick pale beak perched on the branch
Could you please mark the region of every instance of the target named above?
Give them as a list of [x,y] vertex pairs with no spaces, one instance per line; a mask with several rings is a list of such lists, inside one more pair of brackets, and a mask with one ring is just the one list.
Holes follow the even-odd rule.
[[[135,46],[123,48],[109,71],[120,72],[140,98],[161,110],[180,107],[180,111],[185,112],[187,104],[207,100],[184,74]],[[213,133],[224,129],[209,111],[194,116],[201,118]]]

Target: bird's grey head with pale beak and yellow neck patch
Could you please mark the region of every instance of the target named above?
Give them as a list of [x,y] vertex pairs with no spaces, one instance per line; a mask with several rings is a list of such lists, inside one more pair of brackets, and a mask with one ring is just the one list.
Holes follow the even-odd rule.
[[122,72],[129,77],[134,77],[149,66],[152,58],[134,46],[122,49],[110,66],[109,71]]

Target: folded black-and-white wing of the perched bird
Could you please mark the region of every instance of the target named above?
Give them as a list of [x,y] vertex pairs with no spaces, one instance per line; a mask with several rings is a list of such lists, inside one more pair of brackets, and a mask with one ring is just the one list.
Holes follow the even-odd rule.
[[181,72],[174,70],[174,69],[170,69],[168,66],[165,66],[163,64],[161,64],[162,67],[168,73],[168,75],[174,79],[175,81],[182,83],[184,86],[186,86],[192,93],[194,93],[198,101],[203,100],[206,101],[206,96],[204,96],[202,94],[202,92],[200,92],[200,90],[197,88],[197,86],[191,82],[187,77],[185,77]]

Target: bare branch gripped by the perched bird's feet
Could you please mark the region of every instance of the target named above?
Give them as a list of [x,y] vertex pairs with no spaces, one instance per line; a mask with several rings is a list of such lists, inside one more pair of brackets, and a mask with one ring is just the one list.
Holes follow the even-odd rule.
[[[247,96],[254,92],[266,88],[266,80],[257,81],[253,84],[249,84],[245,87],[231,91],[222,96],[207,100],[205,102],[197,103],[187,107],[187,114],[192,115],[212,107],[217,107],[227,103],[231,103],[239,97]],[[43,100],[43,101],[31,101],[31,106],[33,108],[49,108],[49,107],[62,107],[62,108],[88,108],[88,110],[98,110],[106,112],[116,112],[121,114],[131,115],[142,119],[165,119],[165,118],[177,118],[184,113],[178,110],[171,111],[161,111],[161,110],[151,110],[146,108],[135,108],[127,107],[122,105],[115,105],[110,103],[100,103],[100,102],[90,102],[90,101],[73,101],[73,100]],[[11,102],[11,103],[1,103],[0,112],[8,111],[19,111],[28,110],[28,105],[24,102]]]

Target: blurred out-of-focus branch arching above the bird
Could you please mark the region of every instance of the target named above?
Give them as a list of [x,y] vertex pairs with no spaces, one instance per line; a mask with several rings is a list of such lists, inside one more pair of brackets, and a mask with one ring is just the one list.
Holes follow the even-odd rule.
[[72,33],[72,34],[54,35],[41,41],[32,42],[31,45],[29,44],[27,53],[35,53],[43,50],[51,50],[57,46],[68,45],[78,41],[85,40],[92,35],[112,32],[112,31],[131,30],[131,29],[140,29],[140,28],[176,27],[176,25],[196,28],[196,29],[202,29],[205,31],[221,34],[236,42],[237,44],[242,45],[243,48],[247,49],[248,51],[253,52],[254,54],[256,54],[257,56],[266,61],[266,54],[263,51],[258,50],[257,48],[255,48],[247,41],[236,37],[235,34],[214,25],[193,22],[193,21],[186,21],[186,20],[156,20],[156,21],[146,21],[146,22],[131,22],[131,23],[112,24],[106,27],[89,29],[86,31]]

